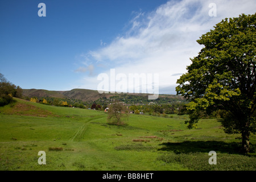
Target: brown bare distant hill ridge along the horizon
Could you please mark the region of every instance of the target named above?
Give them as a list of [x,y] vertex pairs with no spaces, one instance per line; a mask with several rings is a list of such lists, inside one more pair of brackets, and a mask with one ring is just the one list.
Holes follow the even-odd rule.
[[[55,98],[69,98],[81,101],[96,101],[99,98],[109,98],[111,96],[121,96],[123,94],[118,93],[98,93],[97,90],[89,89],[72,89],[68,91],[54,91],[54,90],[43,90],[43,89],[23,89],[23,96],[27,97],[55,97]],[[127,96],[141,96],[147,97],[151,94],[145,93],[127,93]],[[177,100],[183,101],[182,96],[176,96],[172,94],[159,94],[159,98],[176,98]]]

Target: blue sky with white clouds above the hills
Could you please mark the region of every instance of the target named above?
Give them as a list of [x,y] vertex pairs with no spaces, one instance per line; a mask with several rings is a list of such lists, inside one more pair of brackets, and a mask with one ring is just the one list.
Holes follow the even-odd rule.
[[203,48],[196,40],[255,10],[255,0],[0,1],[0,73],[23,89],[47,90],[97,90],[103,73],[109,91],[118,74],[127,83],[144,74],[160,94],[176,94],[176,80]]

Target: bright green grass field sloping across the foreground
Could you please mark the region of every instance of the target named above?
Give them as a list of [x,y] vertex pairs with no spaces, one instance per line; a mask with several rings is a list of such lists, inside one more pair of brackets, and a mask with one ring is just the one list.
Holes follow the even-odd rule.
[[[187,129],[187,115],[131,114],[127,126],[108,125],[103,111],[16,99],[0,107],[0,170],[255,170],[255,151],[239,154],[240,135],[217,119]],[[250,136],[253,147],[255,135]],[[46,165],[39,165],[39,151]],[[209,151],[217,152],[210,165]]]

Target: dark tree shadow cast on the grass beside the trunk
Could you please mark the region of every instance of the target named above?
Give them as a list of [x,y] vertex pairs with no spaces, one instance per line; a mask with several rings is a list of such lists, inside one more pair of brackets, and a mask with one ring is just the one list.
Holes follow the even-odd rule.
[[173,151],[175,154],[188,154],[194,152],[216,151],[228,154],[240,154],[241,143],[222,142],[222,141],[184,141],[184,142],[166,142],[160,144],[163,146],[159,151]]

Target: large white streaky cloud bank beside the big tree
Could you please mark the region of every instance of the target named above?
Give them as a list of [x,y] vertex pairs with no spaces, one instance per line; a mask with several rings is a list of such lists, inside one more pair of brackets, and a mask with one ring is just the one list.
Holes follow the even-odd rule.
[[[217,6],[216,17],[208,15],[212,2]],[[126,75],[158,73],[160,88],[174,88],[180,73],[185,73],[191,64],[189,58],[202,48],[196,40],[222,19],[254,14],[255,5],[255,1],[248,0],[169,1],[150,13],[134,13],[125,35],[86,55]],[[85,79],[85,88],[97,88],[98,81],[88,84]]]

